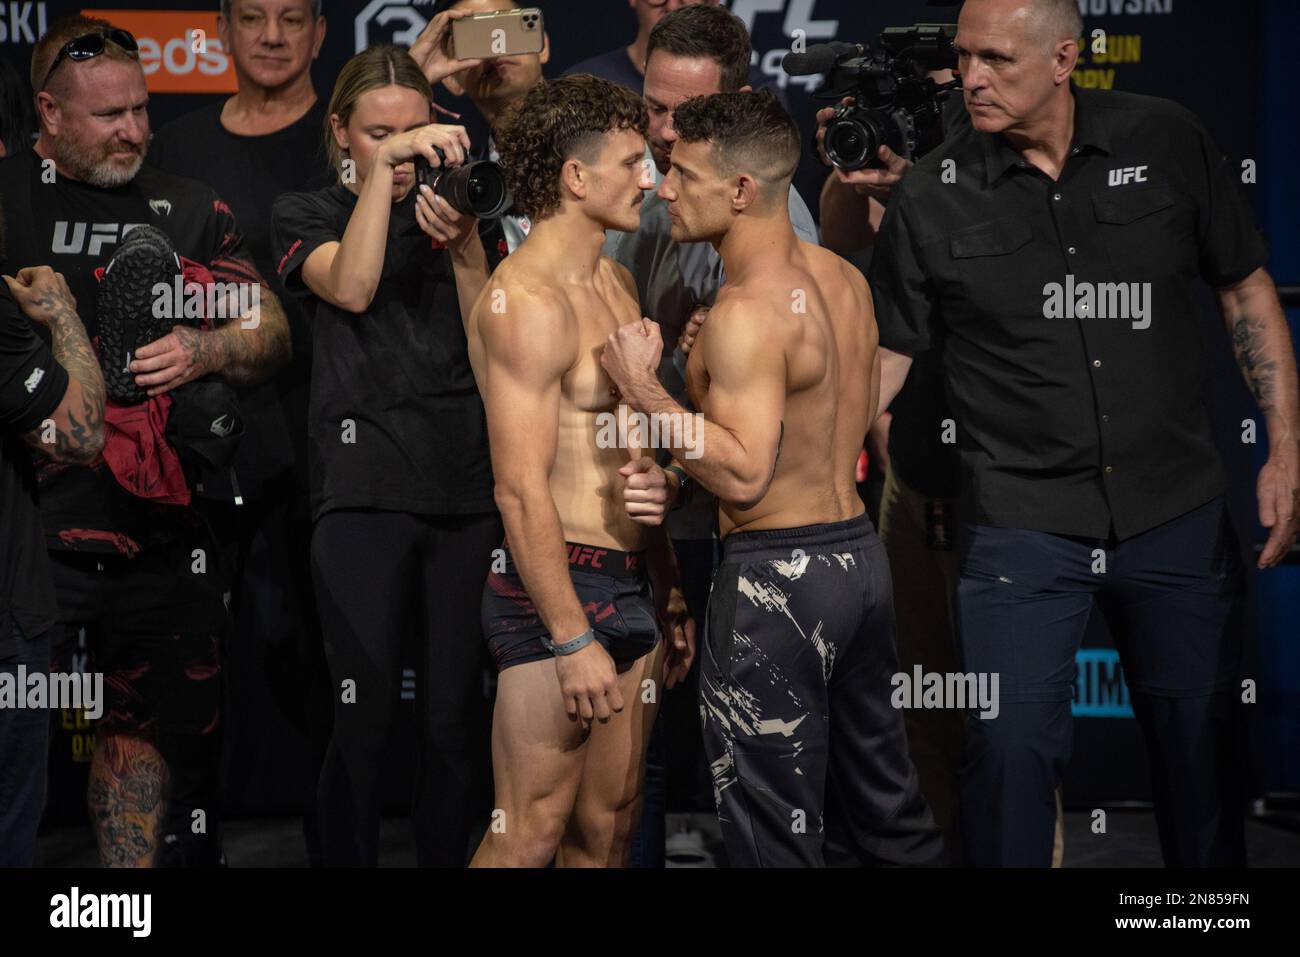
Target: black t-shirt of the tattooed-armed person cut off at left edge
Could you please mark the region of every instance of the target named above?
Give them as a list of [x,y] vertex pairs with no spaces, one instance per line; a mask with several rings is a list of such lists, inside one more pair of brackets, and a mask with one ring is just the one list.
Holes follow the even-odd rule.
[[53,415],[66,390],[64,367],[0,282],[0,659],[16,650],[14,628],[32,638],[58,612],[31,450],[21,437]]

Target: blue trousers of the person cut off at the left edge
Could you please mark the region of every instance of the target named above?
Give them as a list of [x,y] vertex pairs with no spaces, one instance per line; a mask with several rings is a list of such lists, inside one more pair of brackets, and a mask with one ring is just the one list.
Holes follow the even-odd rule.
[[[49,633],[16,635],[14,654],[0,658],[0,672],[14,676],[49,671]],[[25,694],[26,688],[18,688]],[[49,710],[0,707],[0,867],[31,867],[36,861],[36,828],[46,806],[49,758]]]

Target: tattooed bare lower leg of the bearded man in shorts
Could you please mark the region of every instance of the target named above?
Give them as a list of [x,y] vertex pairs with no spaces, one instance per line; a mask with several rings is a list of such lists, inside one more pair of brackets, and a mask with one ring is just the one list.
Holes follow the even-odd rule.
[[107,735],[95,746],[90,805],[105,867],[150,867],[166,807],[166,765],[150,742]]

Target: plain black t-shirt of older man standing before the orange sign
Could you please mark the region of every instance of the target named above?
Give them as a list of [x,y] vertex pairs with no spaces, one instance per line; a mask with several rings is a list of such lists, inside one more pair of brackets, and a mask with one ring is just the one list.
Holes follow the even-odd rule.
[[317,100],[282,130],[244,137],[221,125],[225,100],[186,113],[150,143],[148,161],[216,190],[235,215],[257,272],[285,307],[292,360],[274,380],[238,390],[244,437],[235,455],[240,493],[256,498],[261,485],[287,469],[307,480],[307,395],[311,329],[296,300],[285,295],[270,250],[270,207],[283,192],[318,190],[334,181],[324,147],[325,104]]

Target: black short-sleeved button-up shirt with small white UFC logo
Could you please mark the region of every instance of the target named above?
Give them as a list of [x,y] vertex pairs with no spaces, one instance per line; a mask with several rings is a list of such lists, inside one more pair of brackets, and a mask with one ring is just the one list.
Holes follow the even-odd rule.
[[880,345],[944,343],[966,520],[1123,540],[1223,490],[1191,280],[1231,285],[1266,250],[1192,113],[1074,98],[1056,182],[1001,135],[931,151],[890,198],[870,280]]

